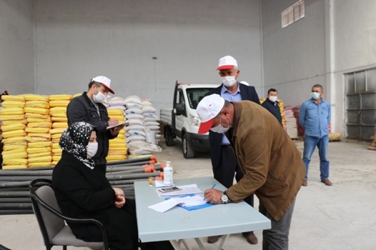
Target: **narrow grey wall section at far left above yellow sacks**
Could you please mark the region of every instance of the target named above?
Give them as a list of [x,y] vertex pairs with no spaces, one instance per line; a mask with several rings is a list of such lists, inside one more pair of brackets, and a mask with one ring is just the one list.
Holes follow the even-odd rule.
[[0,93],[34,92],[32,0],[0,0]]

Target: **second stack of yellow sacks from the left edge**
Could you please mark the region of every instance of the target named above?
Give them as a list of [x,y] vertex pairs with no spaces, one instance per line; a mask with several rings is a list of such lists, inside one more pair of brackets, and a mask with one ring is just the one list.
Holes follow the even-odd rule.
[[24,94],[28,133],[28,167],[51,166],[51,118],[49,99],[45,95]]

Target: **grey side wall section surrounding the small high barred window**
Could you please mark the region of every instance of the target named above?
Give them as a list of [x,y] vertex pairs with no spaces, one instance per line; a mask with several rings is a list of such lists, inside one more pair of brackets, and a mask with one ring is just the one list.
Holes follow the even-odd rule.
[[297,0],[262,1],[265,92],[273,87],[285,104],[310,98],[321,84],[325,98],[325,16],[323,0],[305,0],[305,17],[282,28],[281,12]]

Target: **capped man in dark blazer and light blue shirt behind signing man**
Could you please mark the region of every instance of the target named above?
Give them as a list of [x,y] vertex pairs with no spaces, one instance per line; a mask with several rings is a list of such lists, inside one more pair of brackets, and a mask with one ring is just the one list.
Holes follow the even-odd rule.
[[[238,62],[234,57],[226,55],[220,58],[217,70],[219,70],[222,85],[214,88],[205,95],[216,93],[228,101],[251,100],[260,104],[255,87],[242,84],[238,81],[240,70],[238,69]],[[239,181],[243,177],[243,172],[236,160],[230,141],[221,130],[221,128],[213,127],[209,131],[210,156],[214,178],[224,186],[230,187],[233,185],[234,175],[236,181]],[[253,206],[253,194],[244,200]],[[257,244],[258,242],[256,235],[252,231],[243,232],[243,236],[251,244]],[[217,242],[218,238],[218,235],[210,236],[208,237],[208,242]]]

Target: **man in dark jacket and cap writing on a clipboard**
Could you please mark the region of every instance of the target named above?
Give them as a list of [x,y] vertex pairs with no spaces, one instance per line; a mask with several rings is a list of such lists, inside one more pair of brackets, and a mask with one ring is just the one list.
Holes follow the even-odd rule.
[[111,80],[99,75],[89,82],[87,92],[74,97],[67,106],[68,126],[85,121],[98,128],[98,151],[92,157],[95,166],[106,173],[106,156],[108,154],[109,139],[117,136],[123,125],[107,129],[107,126],[119,123],[117,119],[108,117],[107,109],[102,104],[106,100],[108,92],[115,93],[111,88]]

